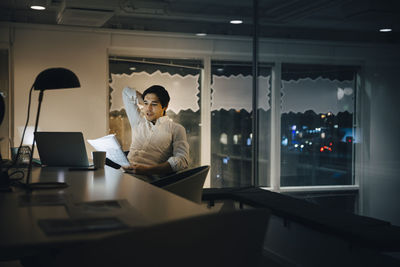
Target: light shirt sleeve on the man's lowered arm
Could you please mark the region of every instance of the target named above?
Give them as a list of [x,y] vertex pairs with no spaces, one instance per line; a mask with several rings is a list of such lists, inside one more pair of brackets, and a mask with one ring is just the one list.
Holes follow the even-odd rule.
[[186,130],[182,125],[177,125],[172,140],[172,157],[168,159],[173,171],[186,169],[189,165],[189,143],[186,139]]

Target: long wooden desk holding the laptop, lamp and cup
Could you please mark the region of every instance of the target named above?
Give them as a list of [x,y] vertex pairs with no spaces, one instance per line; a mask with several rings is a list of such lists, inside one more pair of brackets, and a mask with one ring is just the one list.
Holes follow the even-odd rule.
[[[130,227],[152,226],[209,212],[194,202],[107,166],[96,171],[35,168],[32,182],[37,181],[66,182],[69,187],[37,190],[31,193],[32,196],[59,194],[70,203],[125,199],[132,213],[122,221]],[[38,220],[68,218],[65,206],[21,206],[20,199],[24,195],[27,193],[22,189],[0,193],[0,260],[34,254],[41,248],[85,242],[116,232],[48,236],[38,226]]]

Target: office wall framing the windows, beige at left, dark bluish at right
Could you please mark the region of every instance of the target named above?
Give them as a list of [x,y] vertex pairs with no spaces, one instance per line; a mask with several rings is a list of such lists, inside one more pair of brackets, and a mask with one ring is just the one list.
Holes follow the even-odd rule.
[[[9,30],[11,34],[9,34]],[[251,60],[251,39],[106,31],[17,24],[0,26],[0,40],[12,48],[14,72],[14,141],[26,118],[28,90],[48,67],[74,71],[80,89],[47,91],[40,128],[82,131],[85,138],[107,133],[107,56],[179,57]],[[9,38],[11,36],[11,38]],[[361,213],[400,225],[399,137],[397,118],[400,52],[396,46],[301,40],[262,40],[260,59],[269,62],[357,64],[365,67],[362,99]],[[36,114],[37,93],[33,97]],[[33,124],[33,118],[31,119]],[[204,124],[203,124],[204,125]],[[90,146],[87,145],[90,150]]]

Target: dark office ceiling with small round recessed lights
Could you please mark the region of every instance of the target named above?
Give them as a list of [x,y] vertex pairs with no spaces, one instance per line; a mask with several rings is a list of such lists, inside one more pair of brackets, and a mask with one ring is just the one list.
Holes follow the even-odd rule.
[[[1,0],[0,21],[252,36],[253,10],[252,0]],[[258,0],[257,14],[261,37],[400,43],[398,0]]]

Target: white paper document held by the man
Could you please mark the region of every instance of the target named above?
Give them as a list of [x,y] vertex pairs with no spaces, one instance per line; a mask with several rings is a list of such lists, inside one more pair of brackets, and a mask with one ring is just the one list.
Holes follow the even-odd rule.
[[106,157],[121,166],[129,166],[129,161],[122,151],[115,134],[109,134],[97,139],[87,140],[97,151],[106,151]]

